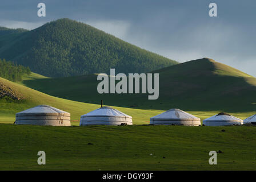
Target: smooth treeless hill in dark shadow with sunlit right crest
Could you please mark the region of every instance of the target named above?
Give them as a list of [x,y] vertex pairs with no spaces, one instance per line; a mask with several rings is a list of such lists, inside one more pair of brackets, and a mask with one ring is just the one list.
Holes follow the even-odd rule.
[[[27,80],[23,84],[74,101],[167,110],[179,108],[201,118],[219,111],[246,118],[256,110],[256,78],[211,59],[199,59],[154,71],[159,73],[159,98],[148,94],[98,94],[97,75]],[[255,113],[254,113],[255,114]]]

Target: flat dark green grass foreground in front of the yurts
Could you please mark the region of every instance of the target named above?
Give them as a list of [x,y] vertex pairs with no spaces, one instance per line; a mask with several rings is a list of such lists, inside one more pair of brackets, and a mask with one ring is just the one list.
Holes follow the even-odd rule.
[[[255,170],[255,132],[248,126],[1,124],[0,170]],[[45,166],[37,164],[40,150]],[[212,150],[223,154],[211,166]]]

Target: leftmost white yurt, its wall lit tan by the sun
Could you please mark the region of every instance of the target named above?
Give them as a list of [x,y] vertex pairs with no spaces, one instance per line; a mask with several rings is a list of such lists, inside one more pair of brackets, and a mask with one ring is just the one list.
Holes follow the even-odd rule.
[[16,114],[16,125],[70,126],[70,113],[39,105]]

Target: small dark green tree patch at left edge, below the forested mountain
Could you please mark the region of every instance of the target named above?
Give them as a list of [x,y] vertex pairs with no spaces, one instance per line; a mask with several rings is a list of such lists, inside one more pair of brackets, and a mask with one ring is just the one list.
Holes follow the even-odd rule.
[[11,61],[6,61],[5,59],[0,59],[0,77],[6,78],[11,81],[21,81],[22,76],[31,73],[29,67],[23,67],[22,65],[17,65]]

